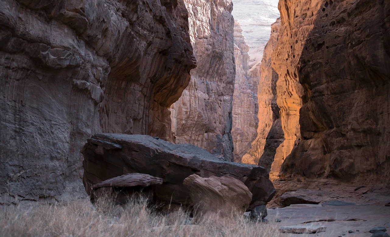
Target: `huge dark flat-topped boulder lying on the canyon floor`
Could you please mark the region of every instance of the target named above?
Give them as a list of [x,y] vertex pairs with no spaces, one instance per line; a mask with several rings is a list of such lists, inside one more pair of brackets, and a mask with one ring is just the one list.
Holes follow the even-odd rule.
[[93,185],[128,173],[161,178],[154,197],[163,202],[190,205],[190,192],[183,181],[191,174],[240,180],[252,193],[249,209],[266,204],[275,194],[263,167],[229,162],[190,144],[172,144],[147,135],[95,134],[81,152],[83,183],[89,195]]

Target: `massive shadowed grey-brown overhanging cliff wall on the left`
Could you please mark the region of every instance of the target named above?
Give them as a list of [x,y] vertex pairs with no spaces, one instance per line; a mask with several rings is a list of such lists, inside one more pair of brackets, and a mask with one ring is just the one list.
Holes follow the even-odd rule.
[[96,132],[168,139],[194,67],[182,0],[2,0],[0,203],[82,195]]

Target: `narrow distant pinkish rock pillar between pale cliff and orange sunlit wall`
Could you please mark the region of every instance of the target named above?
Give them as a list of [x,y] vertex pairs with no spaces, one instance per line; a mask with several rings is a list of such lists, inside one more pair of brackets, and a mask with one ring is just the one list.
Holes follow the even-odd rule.
[[[245,43],[238,21],[234,21],[234,58],[236,60],[236,80],[234,82],[232,109],[232,138],[234,161],[241,158],[251,147],[256,138],[257,119],[257,84],[259,77],[249,72],[249,47]],[[256,163],[257,164],[257,163]]]

